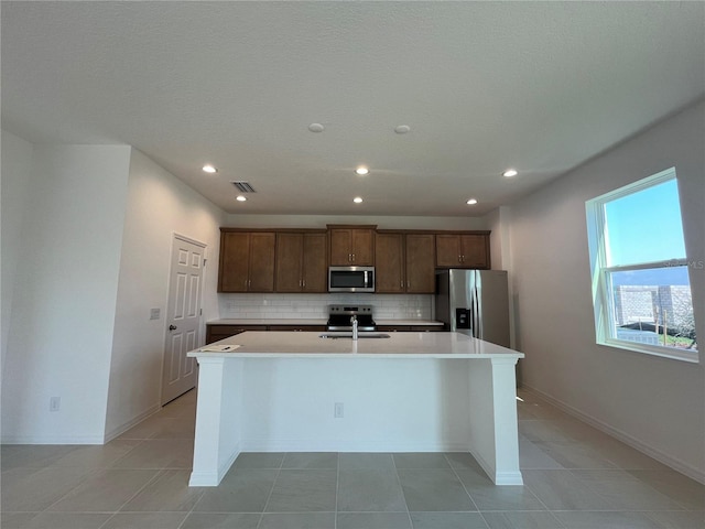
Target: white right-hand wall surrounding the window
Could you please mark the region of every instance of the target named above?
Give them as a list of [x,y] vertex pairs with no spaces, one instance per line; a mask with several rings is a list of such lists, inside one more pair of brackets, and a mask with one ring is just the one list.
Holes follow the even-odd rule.
[[[527,355],[524,385],[699,481],[703,361],[595,344],[585,201],[675,166],[687,256],[704,261],[704,129],[701,102],[519,202],[512,207],[510,268],[518,345]],[[705,357],[705,270],[692,268],[691,283]]]

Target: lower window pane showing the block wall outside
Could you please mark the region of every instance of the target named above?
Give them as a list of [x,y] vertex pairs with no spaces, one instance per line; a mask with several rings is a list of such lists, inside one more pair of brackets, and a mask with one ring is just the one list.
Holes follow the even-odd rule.
[[611,337],[697,350],[687,267],[609,272]]

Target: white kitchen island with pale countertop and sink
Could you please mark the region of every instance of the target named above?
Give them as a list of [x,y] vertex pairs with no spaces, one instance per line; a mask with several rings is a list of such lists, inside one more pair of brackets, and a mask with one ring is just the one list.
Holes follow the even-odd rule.
[[[514,366],[523,354],[458,333],[246,332],[199,364],[191,486],[240,452],[470,452],[521,485]],[[375,333],[379,335],[380,333]],[[219,347],[216,347],[219,346]]]

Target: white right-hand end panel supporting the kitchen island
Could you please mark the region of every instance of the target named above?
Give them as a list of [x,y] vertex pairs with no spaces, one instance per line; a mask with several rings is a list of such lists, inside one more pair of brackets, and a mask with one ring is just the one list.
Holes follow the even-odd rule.
[[468,361],[469,450],[496,485],[523,485],[519,468],[517,358]]

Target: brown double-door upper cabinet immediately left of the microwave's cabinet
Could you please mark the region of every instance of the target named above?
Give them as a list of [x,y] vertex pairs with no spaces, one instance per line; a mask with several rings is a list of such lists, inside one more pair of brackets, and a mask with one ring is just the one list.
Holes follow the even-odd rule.
[[326,292],[326,233],[276,234],[276,292]]

